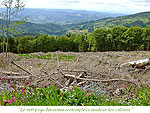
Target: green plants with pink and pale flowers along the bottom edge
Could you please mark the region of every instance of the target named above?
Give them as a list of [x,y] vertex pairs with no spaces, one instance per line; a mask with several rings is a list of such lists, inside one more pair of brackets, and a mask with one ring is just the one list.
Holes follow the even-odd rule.
[[[0,81],[5,80],[1,77]],[[110,98],[97,91],[83,91],[78,87],[65,91],[48,86],[44,88],[31,88],[31,82],[26,82],[25,87],[17,89],[15,84],[9,85],[9,90],[0,92],[1,106],[147,106],[150,105],[150,85],[139,87],[130,85],[122,87],[122,94]],[[129,90],[130,89],[130,90]]]

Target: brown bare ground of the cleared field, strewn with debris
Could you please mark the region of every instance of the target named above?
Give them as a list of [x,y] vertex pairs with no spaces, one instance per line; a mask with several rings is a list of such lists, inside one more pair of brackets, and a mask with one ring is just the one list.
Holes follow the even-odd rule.
[[[144,69],[133,68],[129,65],[122,66],[122,64],[150,58],[150,52],[145,51],[131,51],[131,52],[90,52],[90,53],[74,53],[74,52],[49,52],[49,53],[32,53],[33,55],[70,55],[75,58],[72,61],[59,61],[58,59],[26,59],[23,56],[9,53],[9,58],[5,58],[3,53],[0,54],[0,77],[5,76],[7,79],[1,81],[1,89],[9,89],[8,84],[16,83],[23,87],[27,81],[31,81],[34,87],[44,87],[47,85],[56,85],[57,87],[72,88],[75,85],[83,89],[96,88],[98,90],[113,93],[124,81],[113,82],[93,82],[86,81],[82,84],[82,80],[74,80],[65,78],[64,75],[75,75],[75,77],[82,76],[84,79],[96,80],[112,80],[123,79],[138,84],[141,81],[143,84],[150,84],[150,66]],[[31,72],[31,74],[18,68],[12,64],[14,61],[23,69]],[[10,72],[7,74],[5,72]],[[13,74],[14,72],[20,74]],[[12,74],[11,74],[12,73]],[[81,77],[80,76],[80,77]],[[12,77],[12,79],[11,79]],[[18,77],[18,78],[13,78]],[[138,80],[138,81],[137,81]],[[81,83],[81,84],[79,84]]]

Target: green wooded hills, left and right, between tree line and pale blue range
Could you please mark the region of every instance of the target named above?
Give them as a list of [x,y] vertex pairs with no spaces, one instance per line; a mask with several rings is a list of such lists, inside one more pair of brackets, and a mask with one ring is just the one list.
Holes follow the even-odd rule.
[[[0,25],[4,24],[4,20],[0,20]],[[133,15],[108,17],[99,20],[93,20],[89,22],[81,22],[76,24],[53,24],[53,23],[30,23],[26,22],[23,25],[19,25],[16,30],[20,35],[64,35],[67,31],[89,31],[92,32],[97,28],[112,28],[113,26],[139,26],[145,27],[150,25],[150,12],[142,12]],[[1,30],[0,30],[1,32]],[[15,36],[19,36],[16,34]]]

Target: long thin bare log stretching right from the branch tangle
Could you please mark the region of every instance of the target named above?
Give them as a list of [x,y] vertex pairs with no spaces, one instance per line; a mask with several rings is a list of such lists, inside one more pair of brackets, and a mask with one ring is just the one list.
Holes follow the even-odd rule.
[[132,81],[128,81],[128,80],[125,80],[125,79],[108,79],[108,80],[97,80],[97,79],[85,79],[85,78],[78,78],[76,77],[75,75],[69,75],[69,74],[66,74],[65,75],[65,78],[73,78],[73,79],[76,79],[76,80],[82,80],[82,81],[93,81],[93,82],[117,82],[117,81],[123,81],[123,82],[127,82],[127,83],[131,83],[131,84],[134,84],[136,86],[136,84]]

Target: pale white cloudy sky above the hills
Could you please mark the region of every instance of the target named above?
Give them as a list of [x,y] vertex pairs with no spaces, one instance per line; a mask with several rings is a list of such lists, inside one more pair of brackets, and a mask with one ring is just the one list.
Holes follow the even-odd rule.
[[150,11],[150,0],[22,0],[27,8],[75,9],[133,14]]

